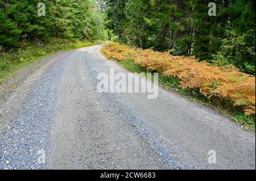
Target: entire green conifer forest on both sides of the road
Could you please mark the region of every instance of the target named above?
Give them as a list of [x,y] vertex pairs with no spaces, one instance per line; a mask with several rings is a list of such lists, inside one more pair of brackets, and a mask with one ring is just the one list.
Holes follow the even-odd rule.
[[0,1],[0,45],[47,37],[111,39],[141,48],[195,55],[214,65],[237,66],[255,74],[255,1],[172,0]]

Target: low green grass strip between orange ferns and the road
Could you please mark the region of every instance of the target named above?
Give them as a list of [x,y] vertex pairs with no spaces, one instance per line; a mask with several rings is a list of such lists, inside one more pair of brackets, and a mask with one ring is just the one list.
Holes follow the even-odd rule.
[[[104,49],[101,50],[106,57],[108,53],[104,52]],[[120,61],[112,57],[112,59],[118,64],[121,64],[123,68],[135,73],[146,73],[147,69],[141,65],[135,64],[133,59],[125,58]],[[204,96],[200,94],[198,89],[184,89],[180,87],[179,79],[175,77],[167,77],[163,73],[159,73],[159,84],[165,87],[168,90],[177,92],[178,94],[185,96],[193,102],[199,102],[214,108],[215,110],[221,112],[225,116],[233,117],[233,120],[236,121],[241,127],[245,129],[250,129],[255,131],[255,115],[246,116],[240,107],[234,107],[233,103],[229,99],[221,99],[218,96]]]

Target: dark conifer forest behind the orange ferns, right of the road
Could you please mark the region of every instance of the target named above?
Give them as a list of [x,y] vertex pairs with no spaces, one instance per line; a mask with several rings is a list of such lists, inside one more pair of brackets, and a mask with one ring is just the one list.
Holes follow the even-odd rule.
[[119,41],[173,55],[195,55],[215,65],[255,74],[255,1],[101,1]]

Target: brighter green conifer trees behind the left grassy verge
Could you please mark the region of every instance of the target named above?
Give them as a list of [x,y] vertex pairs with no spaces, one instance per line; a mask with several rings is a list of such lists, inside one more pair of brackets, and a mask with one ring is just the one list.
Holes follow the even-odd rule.
[[[38,15],[39,2],[45,15]],[[20,40],[47,37],[104,39],[104,24],[94,0],[0,1],[0,45],[15,47]]]

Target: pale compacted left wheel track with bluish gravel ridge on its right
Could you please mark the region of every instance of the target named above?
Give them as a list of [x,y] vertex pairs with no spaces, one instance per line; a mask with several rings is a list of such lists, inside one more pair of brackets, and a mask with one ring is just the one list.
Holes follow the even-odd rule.
[[[70,55],[56,104],[51,169],[178,169],[130,124],[129,109],[96,92],[96,72],[81,49]],[[115,102],[114,105],[110,104]],[[111,111],[110,111],[111,110]],[[146,127],[144,128],[146,129]],[[160,152],[162,152],[160,150]]]

